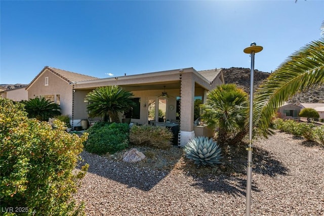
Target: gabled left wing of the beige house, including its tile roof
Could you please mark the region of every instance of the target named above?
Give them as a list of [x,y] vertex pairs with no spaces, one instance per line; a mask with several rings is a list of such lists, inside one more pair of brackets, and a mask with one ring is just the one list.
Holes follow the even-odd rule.
[[98,78],[45,66],[26,87],[28,99],[35,97],[50,99],[60,105],[62,115],[71,117],[73,113],[71,83],[85,80],[98,80]]

